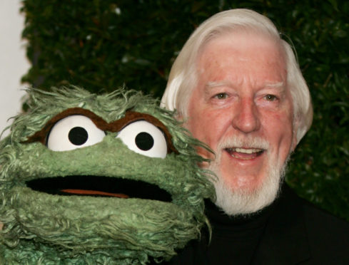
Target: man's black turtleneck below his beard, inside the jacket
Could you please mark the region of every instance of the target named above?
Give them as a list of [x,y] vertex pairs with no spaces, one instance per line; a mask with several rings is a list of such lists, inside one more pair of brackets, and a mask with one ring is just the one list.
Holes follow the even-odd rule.
[[231,217],[206,200],[205,213],[212,228],[211,241],[208,229],[203,229],[201,240],[191,241],[170,264],[252,264],[270,214],[277,204],[278,199],[260,212]]

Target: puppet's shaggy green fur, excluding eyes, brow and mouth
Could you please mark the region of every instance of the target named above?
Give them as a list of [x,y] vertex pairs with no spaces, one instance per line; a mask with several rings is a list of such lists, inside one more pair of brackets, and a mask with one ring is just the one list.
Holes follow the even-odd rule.
[[[31,110],[19,115],[0,143],[0,264],[146,264],[168,260],[206,222],[203,199],[214,192],[198,164],[201,145],[158,102],[134,91],[93,95],[81,88],[29,90]],[[106,132],[96,145],[54,152],[24,143],[67,108],[85,108],[107,122],[126,110],[161,120],[179,154],[165,159],[139,155]],[[202,145],[201,145],[202,146]],[[60,196],[36,192],[26,181],[95,175],[143,180],[165,189],[172,202],[115,197]]]

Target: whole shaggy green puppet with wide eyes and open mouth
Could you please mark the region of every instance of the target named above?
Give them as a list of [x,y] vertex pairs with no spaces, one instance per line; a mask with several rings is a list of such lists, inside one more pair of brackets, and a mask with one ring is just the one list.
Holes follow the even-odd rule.
[[200,142],[135,91],[29,89],[0,142],[0,264],[147,264],[200,236]]

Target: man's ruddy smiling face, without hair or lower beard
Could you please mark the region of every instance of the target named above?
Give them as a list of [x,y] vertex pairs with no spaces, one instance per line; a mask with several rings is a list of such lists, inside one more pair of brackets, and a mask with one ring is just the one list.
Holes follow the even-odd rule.
[[238,31],[208,42],[197,63],[186,126],[216,152],[224,185],[254,194],[296,143],[283,52],[266,36]]

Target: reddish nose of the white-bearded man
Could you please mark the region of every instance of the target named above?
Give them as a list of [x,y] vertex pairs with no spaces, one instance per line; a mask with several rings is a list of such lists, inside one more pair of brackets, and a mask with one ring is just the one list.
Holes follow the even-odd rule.
[[234,108],[233,128],[243,133],[252,133],[261,127],[259,113],[252,99],[241,98]]

